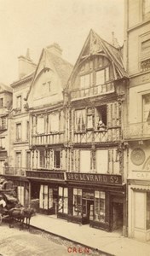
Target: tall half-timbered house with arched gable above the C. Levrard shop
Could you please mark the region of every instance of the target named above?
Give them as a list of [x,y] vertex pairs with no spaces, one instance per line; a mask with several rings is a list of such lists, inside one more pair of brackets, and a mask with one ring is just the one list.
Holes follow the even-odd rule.
[[[121,49],[91,30],[65,90],[69,98],[69,155],[67,187],[59,190],[60,198],[64,195],[66,201],[67,197],[69,221],[124,233],[122,131],[127,82]],[[62,209],[58,215],[62,216]]]

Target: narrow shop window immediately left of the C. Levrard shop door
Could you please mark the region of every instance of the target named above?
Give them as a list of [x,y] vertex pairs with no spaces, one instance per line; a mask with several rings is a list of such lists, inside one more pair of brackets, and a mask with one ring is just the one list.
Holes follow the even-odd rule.
[[73,189],[73,216],[82,215],[82,189]]

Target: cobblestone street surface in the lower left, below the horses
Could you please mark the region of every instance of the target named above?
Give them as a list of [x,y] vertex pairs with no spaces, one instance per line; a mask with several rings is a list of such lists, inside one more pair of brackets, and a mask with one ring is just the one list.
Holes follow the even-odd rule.
[[43,236],[31,234],[27,230],[9,229],[8,225],[4,224],[0,230],[0,254],[3,256],[61,256],[68,254],[67,247],[49,241]]

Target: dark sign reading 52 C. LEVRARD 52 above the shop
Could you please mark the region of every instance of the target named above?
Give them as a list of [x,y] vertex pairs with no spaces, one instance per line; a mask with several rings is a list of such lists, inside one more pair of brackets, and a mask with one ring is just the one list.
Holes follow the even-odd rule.
[[122,184],[120,175],[66,172],[66,179],[73,182]]

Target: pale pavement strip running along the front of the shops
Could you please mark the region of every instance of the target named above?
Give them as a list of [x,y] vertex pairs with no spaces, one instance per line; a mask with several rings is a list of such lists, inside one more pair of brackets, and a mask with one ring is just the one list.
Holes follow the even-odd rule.
[[[31,224],[55,235],[81,243],[85,247],[97,248],[116,256],[150,256],[150,242],[136,241],[124,237],[118,232],[110,233],[97,230],[90,228],[88,224],[73,224],[64,219],[43,214],[32,217]],[[74,253],[74,255],[79,255],[79,253]]]

